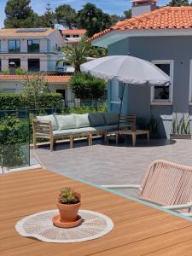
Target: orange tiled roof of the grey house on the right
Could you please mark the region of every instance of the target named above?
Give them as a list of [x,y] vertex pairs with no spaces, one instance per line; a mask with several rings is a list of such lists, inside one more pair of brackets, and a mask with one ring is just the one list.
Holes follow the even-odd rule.
[[164,28],[192,28],[192,7],[162,7],[154,11],[138,15],[131,19],[119,21],[114,26],[104,30],[103,32],[96,33],[87,42],[91,42],[96,38],[101,38],[108,32],[125,31],[125,30],[143,30],[143,29],[164,29]]

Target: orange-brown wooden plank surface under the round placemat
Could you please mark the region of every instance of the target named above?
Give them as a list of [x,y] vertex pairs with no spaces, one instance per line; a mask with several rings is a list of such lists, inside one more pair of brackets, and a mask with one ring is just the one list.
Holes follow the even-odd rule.
[[[26,215],[55,209],[62,186],[82,194],[82,208],[102,212],[114,228],[93,241],[45,243],[19,236],[15,223]],[[53,172],[33,170],[0,176],[0,254],[3,256],[192,255],[192,223]]]

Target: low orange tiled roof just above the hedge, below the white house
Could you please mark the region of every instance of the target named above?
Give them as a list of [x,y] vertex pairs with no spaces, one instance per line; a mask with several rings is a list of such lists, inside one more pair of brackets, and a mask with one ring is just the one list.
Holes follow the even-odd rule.
[[[28,76],[30,78],[30,76]],[[34,78],[32,75],[31,78]],[[68,83],[71,79],[70,75],[65,76],[45,76],[45,80],[48,83]],[[0,81],[24,81],[26,80],[26,75],[0,75]]]

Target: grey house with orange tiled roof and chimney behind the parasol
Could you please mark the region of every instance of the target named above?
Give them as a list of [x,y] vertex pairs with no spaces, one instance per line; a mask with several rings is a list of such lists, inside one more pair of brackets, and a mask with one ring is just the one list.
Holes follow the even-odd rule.
[[[134,6],[135,17],[119,21],[89,41],[108,48],[108,55],[132,55],[151,61],[171,77],[167,88],[129,84],[123,103],[123,113],[159,119],[161,137],[169,137],[175,114],[178,118],[192,114],[192,7],[163,7],[137,15],[136,9],[140,14],[147,3],[153,3],[154,9],[154,1],[141,1]],[[111,112],[119,111],[120,88],[117,81],[108,83]]]

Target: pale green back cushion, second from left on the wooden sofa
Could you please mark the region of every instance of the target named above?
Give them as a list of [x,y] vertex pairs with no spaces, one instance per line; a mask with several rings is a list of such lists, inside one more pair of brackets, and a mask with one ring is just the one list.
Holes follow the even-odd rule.
[[73,129],[76,128],[74,114],[55,114],[58,130]]

